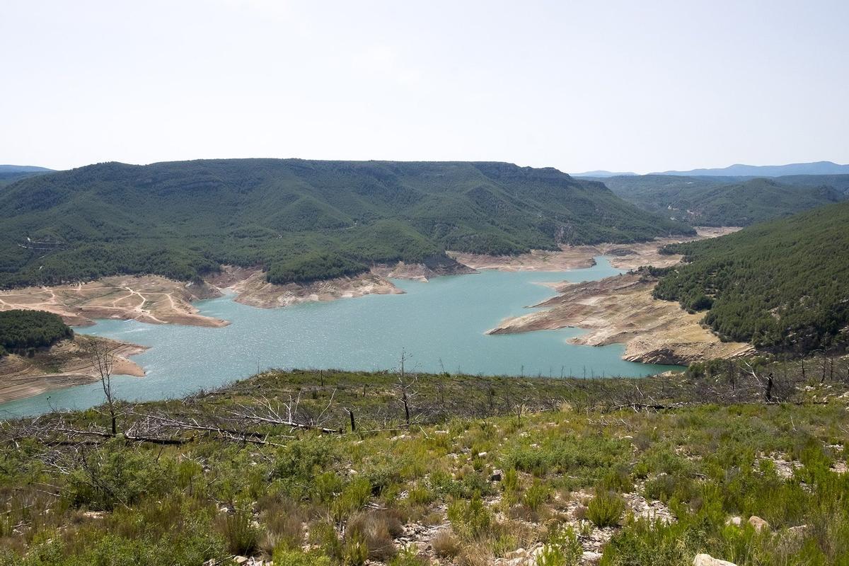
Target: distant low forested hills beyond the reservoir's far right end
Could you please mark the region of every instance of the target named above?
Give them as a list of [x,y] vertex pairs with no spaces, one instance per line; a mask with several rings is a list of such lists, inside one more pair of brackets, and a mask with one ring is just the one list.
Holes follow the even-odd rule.
[[604,184],[644,210],[694,226],[749,226],[845,199],[841,177],[849,179],[837,175],[799,176],[792,181],[789,177],[728,180],[644,175],[611,177]]

